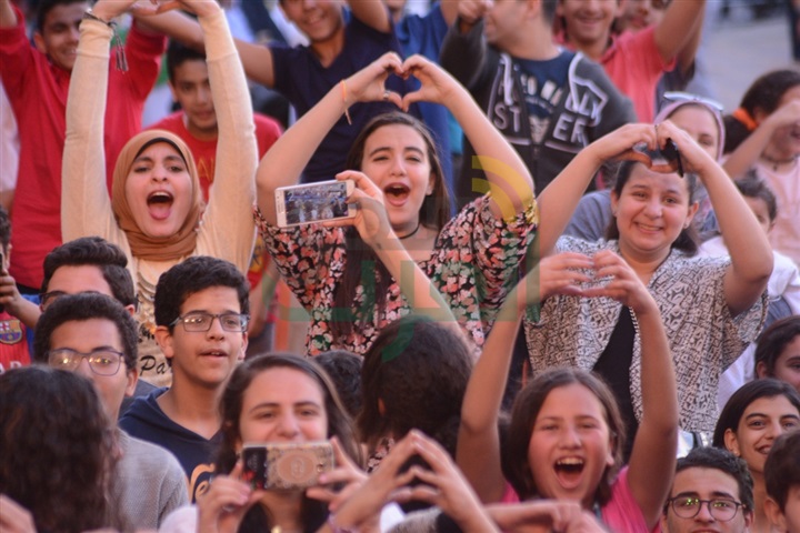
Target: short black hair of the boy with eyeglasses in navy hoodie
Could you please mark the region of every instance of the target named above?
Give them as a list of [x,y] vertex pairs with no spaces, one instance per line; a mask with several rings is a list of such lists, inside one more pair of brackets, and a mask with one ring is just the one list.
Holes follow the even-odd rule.
[[237,291],[240,313],[250,313],[250,284],[230,262],[208,255],[196,255],[161,274],[156,285],[156,324],[172,331],[172,322],[181,314],[189,296],[212,286],[230,286]]

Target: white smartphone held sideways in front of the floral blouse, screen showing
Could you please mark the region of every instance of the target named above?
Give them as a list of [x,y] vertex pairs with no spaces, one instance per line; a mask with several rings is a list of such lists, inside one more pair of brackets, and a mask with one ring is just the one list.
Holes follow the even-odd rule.
[[354,188],[352,180],[333,180],[277,189],[278,227],[352,219],[356,217],[356,205],[349,204],[347,199]]

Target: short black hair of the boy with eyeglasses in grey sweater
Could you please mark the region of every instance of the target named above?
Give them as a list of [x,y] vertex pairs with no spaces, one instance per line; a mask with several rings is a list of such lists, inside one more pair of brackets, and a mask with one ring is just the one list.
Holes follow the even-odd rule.
[[113,322],[122,342],[126,368],[136,369],[139,356],[136,320],[120,302],[97,292],[66,294],[44,310],[33,334],[33,360],[47,364],[50,338],[57,328],[67,322],[84,322],[92,319]]

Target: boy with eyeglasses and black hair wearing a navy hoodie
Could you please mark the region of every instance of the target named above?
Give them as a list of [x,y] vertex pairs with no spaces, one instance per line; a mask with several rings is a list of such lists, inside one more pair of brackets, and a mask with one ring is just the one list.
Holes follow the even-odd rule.
[[192,501],[213,473],[219,396],[244,358],[248,312],[247,280],[220,259],[189,258],[156,286],[156,340],[172,366],[172,386],[137,399],[120,425],[178,457]]

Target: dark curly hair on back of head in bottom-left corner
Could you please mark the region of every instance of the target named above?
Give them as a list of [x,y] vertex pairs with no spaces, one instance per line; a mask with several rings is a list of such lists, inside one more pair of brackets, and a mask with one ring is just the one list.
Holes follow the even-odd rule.
[[38,365],[0,374],[0,493],[28,509],[38,531],[118,525],[114,426],[86,378]]

